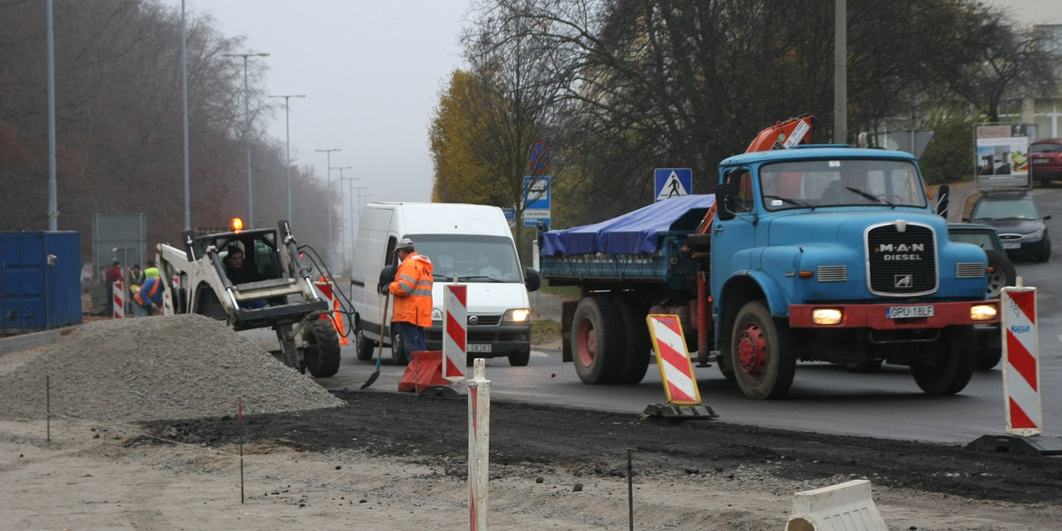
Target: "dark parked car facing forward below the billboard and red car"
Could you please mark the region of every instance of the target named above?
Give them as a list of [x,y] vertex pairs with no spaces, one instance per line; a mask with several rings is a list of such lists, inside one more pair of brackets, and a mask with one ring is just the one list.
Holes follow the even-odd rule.
[[962,221],[996,228],[1003,249],[1011,259],[1047,261],[1051,240],[1046,220],[1027,189],[984,190],[966,198]]

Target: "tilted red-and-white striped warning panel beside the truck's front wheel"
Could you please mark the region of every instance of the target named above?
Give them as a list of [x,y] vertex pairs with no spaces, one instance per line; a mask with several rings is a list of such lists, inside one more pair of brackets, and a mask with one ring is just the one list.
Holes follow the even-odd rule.
[[682,333],[679,315],[652,313],[646,316],[646,322],[649,323],[667,401],[680,406],[701,404],[701,392],[693,378],[693,364],[686,350],[686,338]]

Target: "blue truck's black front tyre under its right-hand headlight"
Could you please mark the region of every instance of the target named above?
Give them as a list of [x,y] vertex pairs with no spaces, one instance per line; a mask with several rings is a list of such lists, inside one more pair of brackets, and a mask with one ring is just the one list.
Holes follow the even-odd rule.
[[927,359],[911,364],[911,376],[922,391],[931,395],[954,395],[970,383],[977,365],[973,325],[948,326],[944,337],[925,352]]

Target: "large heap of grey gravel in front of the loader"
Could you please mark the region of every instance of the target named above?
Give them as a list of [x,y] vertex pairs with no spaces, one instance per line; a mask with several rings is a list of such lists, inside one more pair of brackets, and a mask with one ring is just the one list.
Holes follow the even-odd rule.
[[[50,393],[46,393],[46,377]],[[342,406],[312,379],[195,314],[86,323],[0,375],[0,418],[51,412],[98,421],[158,421]]]

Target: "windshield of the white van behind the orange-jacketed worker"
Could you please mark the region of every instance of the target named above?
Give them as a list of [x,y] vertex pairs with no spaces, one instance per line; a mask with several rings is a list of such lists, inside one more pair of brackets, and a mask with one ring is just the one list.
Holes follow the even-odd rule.
[[416,252],[431,259],[436,281],[523,282],[513,240],[483,235],[407,235]]

